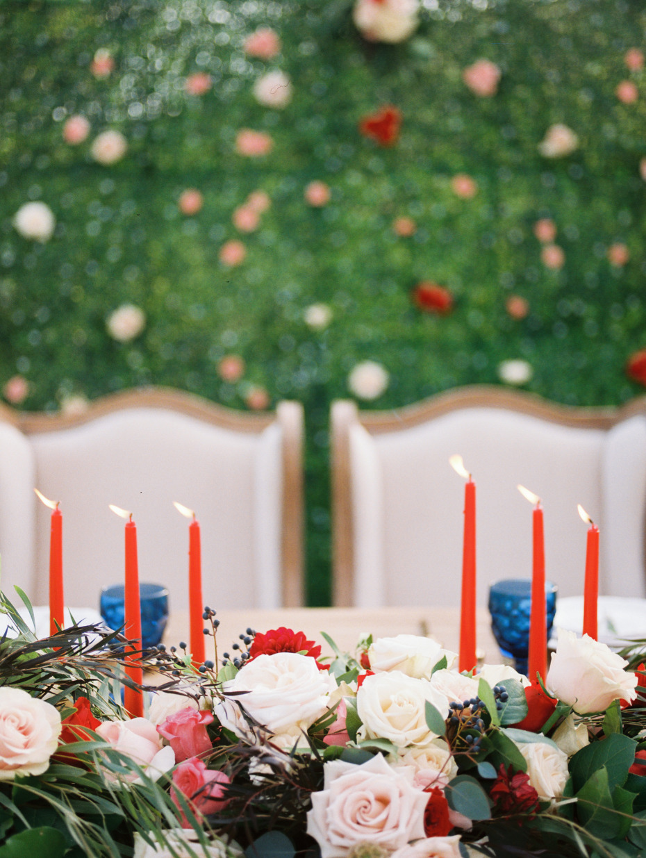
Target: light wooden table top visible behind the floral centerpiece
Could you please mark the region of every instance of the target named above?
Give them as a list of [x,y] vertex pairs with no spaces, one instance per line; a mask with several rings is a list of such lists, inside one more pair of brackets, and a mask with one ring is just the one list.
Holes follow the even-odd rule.
[[[217,613],[220,620],[217,644],[218,657],[231,652],[231,645],[239,640],[247,627],[256,631],[269,631],[281,625],[304,631],[305,635],[321,644],[323,655],[331,656],[328,644],[320,632],[325,631],[340,650],[353,653],[365,634],[377,637],[395,637],[401,634],[424,635],[436,638],[444,649],[458,650],[459,612],[457,608],[420,607],[286,607],[276,610],[251,608],[226,610]],[[501,660],[498,644],[492,635],[489,613],[480,609],[477,615],[478,655],[486,662]],[[188,641],[188,613],[172,613],[166,626],[164,643],[177,645]],[[207,658],[214,658],[213,637],[208,637]]]

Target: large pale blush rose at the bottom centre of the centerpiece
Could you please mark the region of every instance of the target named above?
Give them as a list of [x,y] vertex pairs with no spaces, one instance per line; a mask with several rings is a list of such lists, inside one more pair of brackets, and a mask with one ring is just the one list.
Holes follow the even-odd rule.
[[307,813],[321,858],[344,858],[358,843],[390,852],[424,837],[428,795],[415,789],[412,770],[392,769],[377,754],[361,765],[335,760],[323,772],[323,790],[312,794]]

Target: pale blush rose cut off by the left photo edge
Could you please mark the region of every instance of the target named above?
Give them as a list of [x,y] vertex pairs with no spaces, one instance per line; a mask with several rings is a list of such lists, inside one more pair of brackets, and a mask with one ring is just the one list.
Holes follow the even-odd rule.
[[0,781],[42,775],[56,751],[61,716],[20,688],[0,688]]

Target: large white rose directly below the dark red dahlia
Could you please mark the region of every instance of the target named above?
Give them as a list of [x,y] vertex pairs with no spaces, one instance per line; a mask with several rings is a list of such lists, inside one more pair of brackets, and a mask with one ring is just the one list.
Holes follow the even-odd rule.
[[272,742],[291,748],[329,708],[335,678],[319,670],[311,656],[277,652],[257,656],[224,684],[224,692],[249,692],[214,706],[214,716],[241,738],[253,739],[241,706],[274,734]]

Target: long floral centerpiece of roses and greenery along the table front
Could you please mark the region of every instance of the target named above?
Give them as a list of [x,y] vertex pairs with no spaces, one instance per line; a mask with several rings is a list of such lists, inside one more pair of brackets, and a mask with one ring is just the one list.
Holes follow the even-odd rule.
[[[646,674],[559,633],[544,683],[458,673],[426,637],[325,659],[302,632],[247,629],[120,700],[124,639],[74,626],[0,641],[0,858],[624,858],[646,849]],[[218,621],[205,609],[217,643]],[[216,647],[217,652],[217,647]],[[148,695],[148,691],[146,692]]]

